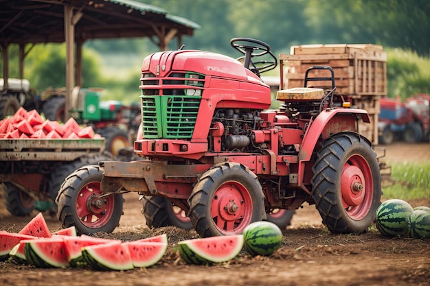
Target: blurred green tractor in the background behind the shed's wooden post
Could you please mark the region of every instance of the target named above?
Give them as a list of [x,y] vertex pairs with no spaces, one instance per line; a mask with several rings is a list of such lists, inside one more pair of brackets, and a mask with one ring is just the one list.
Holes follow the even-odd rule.
[[[122,102],[102,102],[101,88],[75,86],[71,93],[70,116],[80,124],[92,126],[94,132],[106,138],[106,151],[114,157],[124,147],[131,146],[140,123],[140,105],[124,106]],[[41,93],[40,102],[45,117],[65,121],[65,88],[47,89]]]

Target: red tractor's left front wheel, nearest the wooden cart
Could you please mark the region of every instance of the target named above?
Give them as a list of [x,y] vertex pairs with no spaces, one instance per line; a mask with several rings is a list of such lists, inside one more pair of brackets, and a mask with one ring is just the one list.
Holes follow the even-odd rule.
[[104,194],[102,177],[98,166],[84,166],[67,176],[56,198],[63,228],[75,226],[79,234],[91,235],[112,233],[120,225],[124,199],[121,194]]

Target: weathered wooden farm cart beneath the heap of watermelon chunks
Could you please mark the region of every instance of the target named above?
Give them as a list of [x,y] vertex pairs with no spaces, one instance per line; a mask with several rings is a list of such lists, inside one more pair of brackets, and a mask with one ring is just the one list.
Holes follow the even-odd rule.
[[1,139],[0,182],[8,211],[25,216],[35,202],[40,207],[45,207],[42,202],[54,205],[69,174],[111,159],[103,154],[104,144],[104,139]]

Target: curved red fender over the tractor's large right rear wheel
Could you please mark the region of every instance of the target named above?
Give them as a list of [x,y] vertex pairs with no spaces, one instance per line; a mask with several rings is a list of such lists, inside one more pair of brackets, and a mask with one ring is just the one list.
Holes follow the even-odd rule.
[[328,125],[330,120],[334,119],[337,115],[350,115],[357,121],[359,118],[365,123],[370,123],[370,117],[366,110],[357,108],[333,108],[323,110],[319,115],[310,121],[310,125],[304,134],[302,147],[299,150],[299,174],[298,182],[303,183],[305,163],[308,162],[315,150],[315,145],[320,139],[324,128]]

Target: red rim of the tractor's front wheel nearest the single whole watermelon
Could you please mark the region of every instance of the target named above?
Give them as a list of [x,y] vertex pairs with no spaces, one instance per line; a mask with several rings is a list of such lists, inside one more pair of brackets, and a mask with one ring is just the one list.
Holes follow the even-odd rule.
[[225,182],[215,191],[210,215],[223,235],[242,233],[251,222],[252,213],[251,195],[240,182]]

